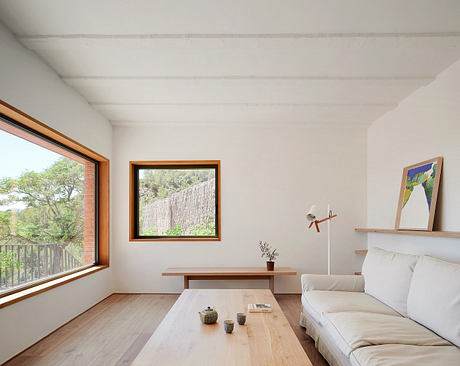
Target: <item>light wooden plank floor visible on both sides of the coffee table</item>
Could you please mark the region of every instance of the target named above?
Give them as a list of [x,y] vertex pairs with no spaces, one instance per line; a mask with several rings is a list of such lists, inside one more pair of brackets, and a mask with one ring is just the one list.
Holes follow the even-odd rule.
[[[131,365],[179,295],[114,294],[4,366]],[[299,326],[300,295],[275,295],[314,366],[327,366]]]

